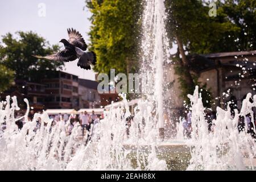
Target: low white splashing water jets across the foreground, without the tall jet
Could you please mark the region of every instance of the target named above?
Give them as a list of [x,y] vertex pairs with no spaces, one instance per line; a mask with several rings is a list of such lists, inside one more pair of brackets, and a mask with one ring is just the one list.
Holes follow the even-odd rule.
[[[68,123],[64,121],[52,125],[47,113],[34,115],[21,130],[15,124],[14,113],[19,110],[16,97],[6,98],[0,104],[1,126],[6,129],[0,133],[0,169],[1,170],[112,170],[146,169],[165,170],[167,163],[159,159],[159,147],[168,144],[159,143],[157,128],[152,119],[152,107],[149,101],[139,101],[134,119],[127,134],[126,119],[130,115],[127,101],[124,107],[112,108],[105,112],[105,119],[95,124],[92,139],[86,144],[81,138],[81,126],[75,125],[70,135]],[[256,156],[255,140],[246,131],[239,133],[237,123],[239,115],[251,113],[256,105],[251,94],[243,101],[242,111],[236,111],[231,117],[230,109],[217,108],[217,119],[213,121],[214,131],[209,133],[202,103],[196,87],[191,99],[192,139],[187,140],[191,160],[188,170],[225,170],[254,169]],[[126,108],[126,111],[125,111]],[[144,118],[144,119],[143,119]],[[36,127],[41,121],[41,126]],[[174,152],[174,151],[173,151]],[[160,154],[161,155],[161,154]],[[168,155],[172,155],[171,152]],[[246,161],[247,162],[246,162]]]

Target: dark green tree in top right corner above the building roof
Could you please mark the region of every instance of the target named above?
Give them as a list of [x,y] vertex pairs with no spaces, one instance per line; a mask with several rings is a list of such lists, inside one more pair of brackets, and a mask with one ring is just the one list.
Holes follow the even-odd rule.
[[[224,43],[231,40],[222,51],[251,51],[256,49],[256,0],[218,0],[218,16],[236,26],[236,34],[225,36]],[[236,40],[236,41],[234,41]],[[225,43],[226,44],[226,43]],[[222,48],[222,47],[220,47]]]

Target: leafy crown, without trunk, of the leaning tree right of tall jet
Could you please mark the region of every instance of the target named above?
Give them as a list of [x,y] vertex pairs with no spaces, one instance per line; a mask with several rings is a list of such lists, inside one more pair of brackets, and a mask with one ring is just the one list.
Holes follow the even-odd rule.
[[[168,32],[172,40],[183,45],[188,53],[237,51],[234,38],[241,28],[218,7],[210,17],[210,8],[200,0],[168,0]],[[241,17],[242,18],[242,17]]]

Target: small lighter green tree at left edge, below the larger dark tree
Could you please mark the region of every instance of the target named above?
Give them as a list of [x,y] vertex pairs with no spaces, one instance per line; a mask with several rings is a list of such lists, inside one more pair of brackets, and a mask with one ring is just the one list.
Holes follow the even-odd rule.
[[0,93],[9,89],[14,82],[14,71],[0,64]]

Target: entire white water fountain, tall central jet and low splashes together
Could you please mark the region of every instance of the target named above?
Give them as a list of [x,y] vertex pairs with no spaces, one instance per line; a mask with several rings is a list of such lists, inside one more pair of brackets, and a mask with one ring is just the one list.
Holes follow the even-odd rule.
[[[163,61],[168,61],[168,40],[164,28],[164,1],[147,0],[143,14],[143,67],[152,72],[154,89],[147,90],[147,100],[139,100],[127,133],[126,118],[129,106],[122,95],[124,107],[105,111],[105,118],[97,124],[90,142],[81,138],[81,126],[67,134],[69,122],[53,125],[47,113],[34,115],[28,121],[30,106],[21,130],[15,125],[19,110],[16,97],[0,103],[0,170],[166,170],[166,169],[253,169],[255,140],[245,131],[239,133],[240,115],[252,114],[256,96],[243,101],[241,113],[217,108],[213,121],[214,132],[209,133],[198,87],[191,100],[192,139],[183,143],[162,141],[163,129]],[[153,94],[152,94],[153,93]],[[41,123],[38,127],[38,121]],[[5,129],[2,130],[2,126]],[[180,128],[180,127],[177,127]],[[254,127],[255,130],[255,127]],[[160,130],[161,131],[161,130]],[[182,135],[179,133],[179,138]]]

